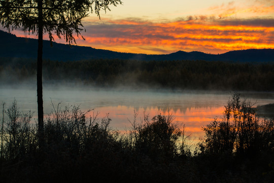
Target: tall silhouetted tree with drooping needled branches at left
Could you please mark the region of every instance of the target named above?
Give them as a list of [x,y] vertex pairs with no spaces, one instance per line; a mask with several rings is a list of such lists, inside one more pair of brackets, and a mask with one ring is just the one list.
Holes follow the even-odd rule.
[[[82,19],[89,12],[95,12],[100,17],[100,10],[105,12],[109,5],[121,4],[120,0],[2,0],[0,1],[0,21],[2,26],[23,28],[25,32],[38,34],[37,58],[37,98],[38,98],[38,135],[44,136],[43,88],[42,88],[42,54],[43,34],[49,35],[54,41],[53,33],[60,39],[63,37],[68,43],[75,43],[77,36],[83,31]],[[83,37],[82,37],[83,38]]]

